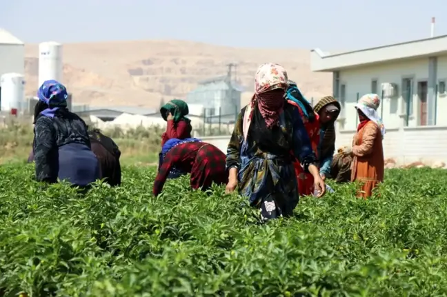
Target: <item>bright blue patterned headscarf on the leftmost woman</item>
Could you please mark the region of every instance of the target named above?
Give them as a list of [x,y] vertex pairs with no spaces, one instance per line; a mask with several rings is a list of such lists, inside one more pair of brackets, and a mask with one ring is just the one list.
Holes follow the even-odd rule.
[[67,106],[67,89],[63,84],[54,79],[42,83],[39,90],[37,90],[37,97],[39,97],[39,101],[48,105],[48,108],[41,112],[44,116],[50,116],[52,118],[56,110],[59,110],[60,107]]

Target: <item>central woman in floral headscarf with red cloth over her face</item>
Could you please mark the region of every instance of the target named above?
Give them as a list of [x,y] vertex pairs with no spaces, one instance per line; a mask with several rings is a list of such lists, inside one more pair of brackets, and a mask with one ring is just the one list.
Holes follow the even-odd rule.
[[320,196],[325,192],[299,111],[284,99],[287,81],[280,65],[259,67],[255,95],[239,113],[228,143],[226,192],[239,186],[264,221],[290,216],[299,201],[294,155],[314,177]]

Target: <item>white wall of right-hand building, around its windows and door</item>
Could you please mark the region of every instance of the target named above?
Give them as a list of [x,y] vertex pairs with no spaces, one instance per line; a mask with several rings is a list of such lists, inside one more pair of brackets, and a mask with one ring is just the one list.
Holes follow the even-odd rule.
[[[402,97],[402,79],[413,78],[413,112],[409,117],[408,127],[418,125],[419,97],[417,96],[417,82],[428,81],[428,58],[406,59],[394,63],[370,65],[368,67],[343,70],[340,74],[340,85],[346,85],[346,103],[340,119],[344,119],[344,129],[353,130],[357,127],[357,114],[354,105],[359,97],[371,92],[371,82],[377,79],[378,94],[381,95],[381,83],[396,83],[398,96],[384,98],[379,107],[379,114],[386,127],[397,128],[405,121],[406,100]],[[438,57],[438,79],[447,81],[447,56]],[[383,111],[383,114],[382,114]],[[437,125],[447,125],[447,96],[440,94],[437,98]]]

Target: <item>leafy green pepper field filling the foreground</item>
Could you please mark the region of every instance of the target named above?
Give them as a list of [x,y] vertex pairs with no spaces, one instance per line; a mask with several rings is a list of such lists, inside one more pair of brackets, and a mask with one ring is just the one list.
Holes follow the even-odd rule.
[[[0,296],[445,296],[447,172],[389,170],[377,196],[333,185],[260,224],[245,199],[155,169],[82,196],[0,166]],[[22,296],[23,296],[22,295]]]

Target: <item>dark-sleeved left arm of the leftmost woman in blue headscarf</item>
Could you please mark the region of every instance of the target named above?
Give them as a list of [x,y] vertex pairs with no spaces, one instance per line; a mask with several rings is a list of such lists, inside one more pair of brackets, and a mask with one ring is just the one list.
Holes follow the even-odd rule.
[[37,181],[57,181],[57,172],[53,172],[50,153],[56,148],[56,135],[52,119],[42,116],[34,125],[34,162]]

